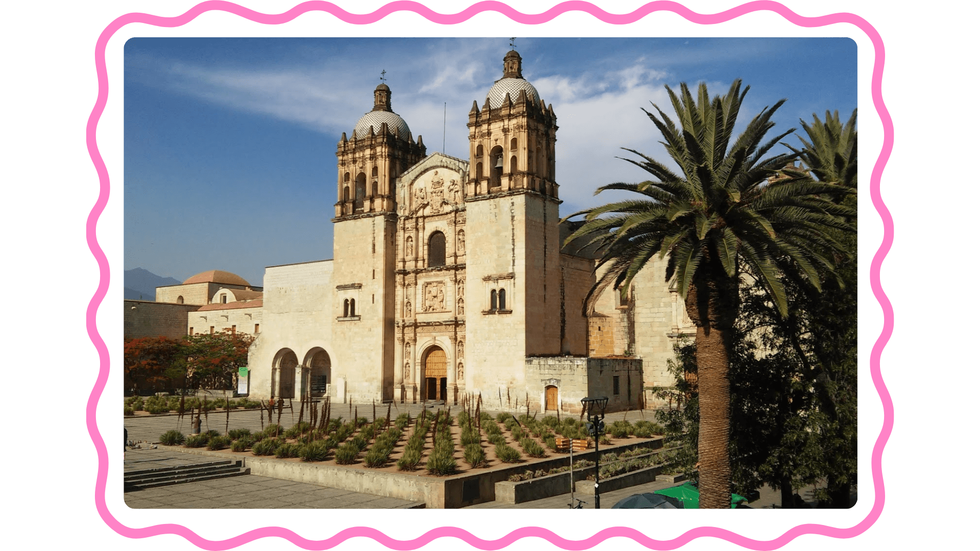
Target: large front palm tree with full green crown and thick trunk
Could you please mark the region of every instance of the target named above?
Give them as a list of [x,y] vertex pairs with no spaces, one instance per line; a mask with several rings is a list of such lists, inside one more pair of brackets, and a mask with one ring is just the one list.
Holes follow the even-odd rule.
[[[632,279],[654,258],[666,257],[666,278],[685,301],[696,328],[699,385],[701,507],[730,507],[729,346],[738,315],[740,274],[751,273],[782,315],[786,315],[784,271],[802,275],[820,286],[821,275],[833,274],[834,254],[846,250],[827,228],[853,230],[841,217],[851,209],[829,196],[841,187],[812,179],[788,164],[796,153],[766,157],[791,128],[771,139],[771,117],[785,102],[763,109],[731,142],[739,108],[749,86],[732,82],[724,97],[709,98],[698,86],[695,99],[687,85],[678,96],[666,87],[677,115],[675,125],[654,105],[659,117],[644,112],[661,131],[675,174],[638,151],[625,159],[655,179],[611,183],[608,189],[635,192],[640,198],[575,213],[585,221],[566,240],[589,236],[601,245],[596,271],[602,275],[589,290],[588,313],[602,290],[613,285],[625,293]],[[567,220],[566,218],[566,220]]]

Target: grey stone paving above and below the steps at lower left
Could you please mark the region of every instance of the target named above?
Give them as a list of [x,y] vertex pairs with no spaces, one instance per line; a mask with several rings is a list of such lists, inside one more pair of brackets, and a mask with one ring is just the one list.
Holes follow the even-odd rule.
[[[145,444],[144,444],[145,446]],[[123,471],[214,461],[172,449],[127,450]],[[417,502],[268,476],[230,476],[123,493],[130,509],[416,509]]]

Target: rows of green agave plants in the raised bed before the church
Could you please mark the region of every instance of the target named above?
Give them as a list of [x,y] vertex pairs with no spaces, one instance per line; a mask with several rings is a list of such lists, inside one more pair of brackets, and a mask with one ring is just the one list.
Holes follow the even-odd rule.
[[[493,445],[494,456],[502,463],[518,463],[524,456],[547,457],[549,453],[541,442],[555,452],[557,435],[588,437],[584,424],[572,417],[560,420],[547,416],[539,420],[536,416],[522,415],[518,419],[511,414],[502,413],[495,419],[480,412],[478,402],[475,408],[467,406],[471,404],[465,404],[455,420],[448,409],[438,410],[434,414],[423,410],[415,419],[404,413],[392,420],[389,406],[385,418],[368,422],[367,418],[356,417],[355,412],[355,418],[346,423],[342,418],[331,419],[329,410],[324,409],[324,415],[312,416],[316,425],[301,421],[284,429],[278,424],[270,423],[256,433],[247,428],[237,428],[228,430],[226,435],[210,430],[187,437],[177,430],[169,430],[161,435],[160,441],[167,445],[183,444],[212,450],[230,447],[234,452],[251,450],[255,455],[299,458],[310,462],[326,461],[332,454],[332,459],[338,465],[353,465],[360,459],[368,468],[381,468],[390,465],[392,453],[403,439],[406,429],[410,429],[411,435],[405,441],[402,456],[395,465],[402,471],[415,471],[424,467],[432,475],[451,475],[458,470],[457,440],[452,430],[454,421],[459,426],[463,460],[474,469],[488,467],[491,463],[483,446],[484,435],[486,442]],[[316,409],[311,410],[316,412]],[[510,432],[511,440],[520,450],[509,444],[501,424]],[[618,437],[631,433],[646,437],[658,432],[660,428],[645,422],[634,425],[625,421],[616,422],[612,427],[613,433]]]

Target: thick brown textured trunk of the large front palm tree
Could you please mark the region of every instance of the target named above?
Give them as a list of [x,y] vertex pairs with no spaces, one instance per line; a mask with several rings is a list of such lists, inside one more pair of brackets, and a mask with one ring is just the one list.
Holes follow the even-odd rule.
[[698,484],[701,509],[731,507],[731,465],[728,454],[731,390],[725,331],[701,324],[695,333],[698,354]]

